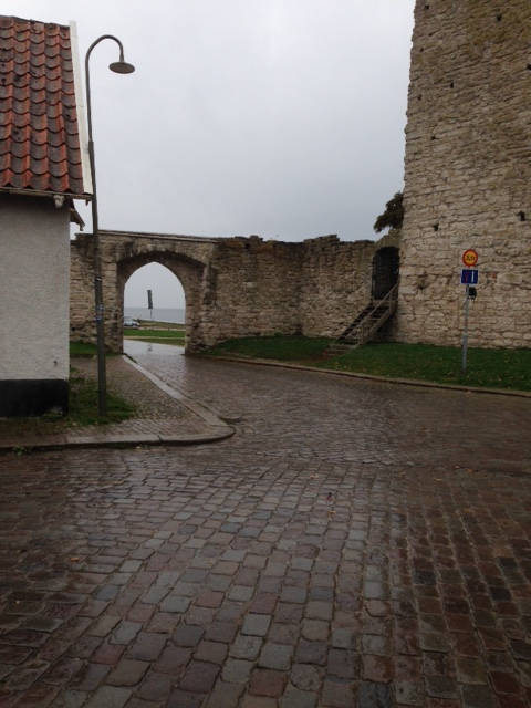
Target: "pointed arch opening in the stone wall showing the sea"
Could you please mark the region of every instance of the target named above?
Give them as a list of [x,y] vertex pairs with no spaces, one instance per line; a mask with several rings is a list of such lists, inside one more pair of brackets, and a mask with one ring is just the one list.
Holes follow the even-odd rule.
[[137,268],[125,282],[123,301],[124,340],[149,337],[162,344],[167,340],[168,344],[185,345],[185,291],[169,268],[157,262]]

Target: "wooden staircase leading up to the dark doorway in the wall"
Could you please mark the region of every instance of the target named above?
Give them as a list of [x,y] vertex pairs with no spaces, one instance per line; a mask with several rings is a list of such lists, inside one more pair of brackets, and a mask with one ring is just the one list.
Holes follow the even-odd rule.
[[397,298],[398,284],[393,285],[381,300],[372,300],[337,340],[326,348],[326,354],[337,356],[374,339],[376,332],[394,315]]

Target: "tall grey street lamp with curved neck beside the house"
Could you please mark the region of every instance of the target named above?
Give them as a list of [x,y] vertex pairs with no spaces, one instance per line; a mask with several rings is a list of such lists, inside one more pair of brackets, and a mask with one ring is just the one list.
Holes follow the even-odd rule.
[[135,71],[133,64],[124,61],[124,48],[122,42],[113,34],[102,34],[88,48],[85,56],[85,86],[86,86],[86,113],[88,116],[88,157],[91,160],[92,177],[92,236],[94,239],[94,303],[96,309],[96,340],[97,340],[97,415],[103,417],[107,413],[107,384],[105,373],[105,329],[102,288],[102,262],[100,258],[100,228],[97,222],[97,190],[96,190],[96,163],[94,159],[94,143],[92,139],[92,112],[91,112],[91,76],[88,72],[88,59],[92,50],[103,40],[113,40],[119,46],[119,60],[108,65],[116,74],[131,74]]

